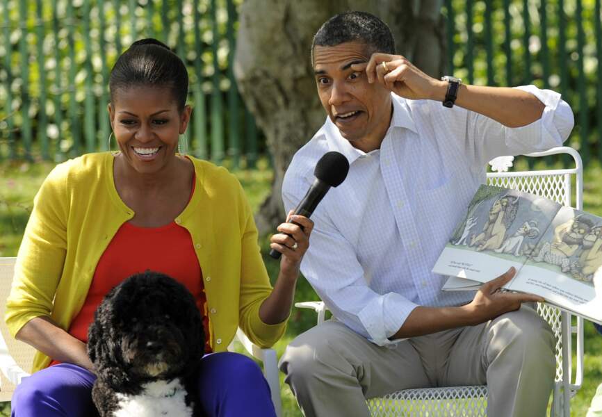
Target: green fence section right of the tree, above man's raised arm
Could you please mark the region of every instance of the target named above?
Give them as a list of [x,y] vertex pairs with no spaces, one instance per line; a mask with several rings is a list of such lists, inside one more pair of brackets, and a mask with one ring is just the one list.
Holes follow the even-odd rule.
[[602,161],[601,0],[445,0],[450,72],[480,85],[560,92],[571,104],[569,144]]

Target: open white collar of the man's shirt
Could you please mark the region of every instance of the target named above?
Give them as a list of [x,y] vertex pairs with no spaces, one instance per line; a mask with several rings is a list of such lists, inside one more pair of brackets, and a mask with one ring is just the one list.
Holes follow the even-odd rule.
[[[405,99],[391,93],[391,101],[393,103],[393,116],[391,117],[391,126],[394,128],[402,127],[418,133],[416,124],[412,120],[412,113],[409,111],[409,107]],[[330,151],[341,152],[348,159],[349,163],[352,164],[357,158],[365,155],[372,154],[373,152],[361,151],[353,147],[348,140],[343,138],[341,131],[336,125],[330,120],[330,117],[326,117],[326,122],[318,131],[318,135],[323,134],[328,143],[328,149]],[[389,134],[389,133],[387,133]]]

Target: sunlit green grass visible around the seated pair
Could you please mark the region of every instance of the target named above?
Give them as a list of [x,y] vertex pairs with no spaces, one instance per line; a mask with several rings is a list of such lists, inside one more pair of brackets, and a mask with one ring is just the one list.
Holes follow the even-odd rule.
[[[520,164],[519,164],[520,165]],[[24,227],[31,211],[32,199],[40,184],[54,164],[36,163],[0,163],[0,256],[15,256],[21,241]],[[252,206],[257,209],[263,198],[268,195],[272,173],[266,161],[260,161],[256,170],[240,170],[236,172]],[[602,216],[602,168],[599,163],[592,163],[584,175],[585,211]],[[261,239],[263,252],[267,254],[268,238]],[[266,266],[271,279],[277,276],[279,262],[265,256]],[[317,300],[318,297],[307,281],[300,279],[295,301]],[[295,335],[309,329],[316,322],[316,315],[308,310],[294,309],[286,334],[275,345],[279,355]],[[573,359],[573,364],[575,360]],[[571,401],[574,416],[585,416],[589,402],[602,382],[602,337],[598,336],[591,323],[585,323],[585,361],[584,383],[575,398]],[[281,396],[284,416],[301,416],[291,391],[281,377]],[[0,410],[5,415],[8,407]],[[8,414],[6,414],[8,415]]]

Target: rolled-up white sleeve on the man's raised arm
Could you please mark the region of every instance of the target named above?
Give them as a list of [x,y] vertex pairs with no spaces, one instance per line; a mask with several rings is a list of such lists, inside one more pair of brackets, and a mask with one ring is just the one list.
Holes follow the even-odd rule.
[[467,112],[466,142],[474,152],[478,165],[485,165],[497,156],[530,154],[562,146],[573,129],[573,111],[558,92],[540,90],[535,85],[522,85],[516,89],[526,91],[541,101],[545,108],[542,117],[521,127],[507,127],[487,116]]

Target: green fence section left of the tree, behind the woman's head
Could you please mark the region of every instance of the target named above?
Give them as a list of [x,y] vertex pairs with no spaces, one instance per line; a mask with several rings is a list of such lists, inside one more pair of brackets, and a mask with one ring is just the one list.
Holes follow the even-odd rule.
[[189,69],[195,110],[181,143],[200,158],[254,165],[259,135],[231,70],[234,0],[3,0],[0,7],[0,159],[63,161],[107,149],[109,69],[131,42],[155,37]]

